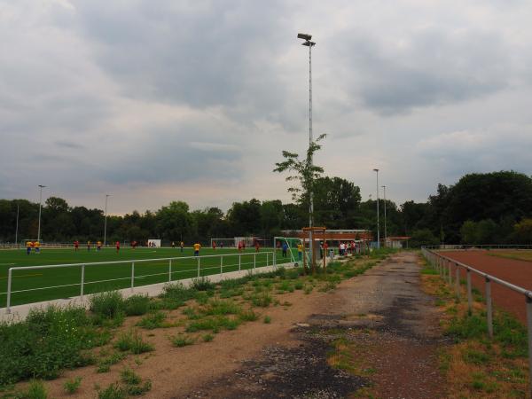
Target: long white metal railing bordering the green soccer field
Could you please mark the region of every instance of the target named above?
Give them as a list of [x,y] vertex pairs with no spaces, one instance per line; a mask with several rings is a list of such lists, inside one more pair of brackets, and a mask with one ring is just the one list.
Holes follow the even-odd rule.
[[[135,288],[135,278],[146,278],[146,277],[153,277],[153,276],[161,276],[161,275],[167,275],[168,274],[168,282],[172,281],[172,275],[176,273],[187,273],[187,272],[193,272],[197,271],[197,277],[201,277],[201,270],[220,270],[219,274],[223,274],[223,268],[231,268],[231,267],[239,267],[239,270],[242,270],[242,267],[246,268],[246,266],[253,265],[252,269],[255,269],[257,267],[257,254],[259,255],[266,255],[266,264],[264,266],[277,266],[277,257],[274,252],[259,252],[259,253],[241,253],[241,254],[216,254],[216,255],[204,255],[204,256],[181,256],[181,257],[171,257],[171,258],[155,258],[155,259],[135,259],[135,260],[129,260],[129,261],[112,261],[112,262],[83,262],[83,263],[65,263],[65,264],[51,264],[51,265],[40,265],[40,266],[17,266],[9,268],[7,273],[7,291],[6,294],[6,313],[11,313],[11,301],[12,301],[12,294],[13,293],[27,293],[31,291],[41,291],[46,289],[52,289],[52,288],[63,288],[66,286],[80,286],[80,297],[83,299],[84,294],[84,287],[89,284],[98,284],[98,283],[106,283],[110,281],[120,281],[120,280],[130,280],[131,281],[131,290]],[[230,264],[224,264],[223,258],[228,257],[239,257],[239,262],[230,263]],[[246,257],[252,257],[252,262],[242,262],[242,256]],[[209,266],[209,267],[203,267],[201,268],[201,259],[206,258],[220,258],[220,264],[215,266]],[[172,267],[175,265],[178,261],[184,261],[184,260],[190,260],[190,259],[196,259],[197,260],[197,266],[194,269],[189,270],[172,270]],[[245,259],[246,260],[246,259]],[[176,262],[172,262],[176,261]],[[168,272],[164,273],[152,273],[152,274],[145,274],[145,275],[135,275],[135,263],[142,263],[142,262],[168,262]],[[264,261],[259,261],[259,264]],[[104,280],[95,280],[95,281],[85,281],[85,268],[91,267],[91,266],[98,266],[98,265],[109,265],[109,264],[131,264],[131,275],[127,278],[108,278]],[[64,284],[59,286],[42,286],[42,287],[36,287],[36,288],[27,288],[23,290],[12,290],[12,272],[13,270],[42,270],[42,269],[60,269],[60,268],[81,268],[81,280],[79,283],[73,283],[73,284]],[[211,273],[215,274],[215,273]]]

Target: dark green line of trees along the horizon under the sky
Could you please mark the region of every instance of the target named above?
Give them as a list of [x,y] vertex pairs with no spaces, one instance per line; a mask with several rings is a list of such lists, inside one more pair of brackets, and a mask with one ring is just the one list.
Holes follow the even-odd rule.
[[[323,176],[313,183],[315,224],[328,229],[366,229],[376,237],[376,200],[362,201],[360,188],[340,177]],[[380,237],[384,237],[384,207],[388,236],[410,236],[411,246],[438,243],[532,242],[532,179],[514,171],[465,175],[457,184],[438,184],[426,202],[396,205],[379,200]],[[36,239],[39,204],[0,200],[0,241],[13,242],[17,207],[19,239]],[[308,199],[234,202],[227,212],[218,207],[191,210],[176,200],[160,209],[107,216],[107,240],[162,239],[164,242],[255,236],[270,239],[282,230],[300,230],[309,223]],[[42,209],[44,241],[101,240],[104,211],[71,207],[50,197]]]

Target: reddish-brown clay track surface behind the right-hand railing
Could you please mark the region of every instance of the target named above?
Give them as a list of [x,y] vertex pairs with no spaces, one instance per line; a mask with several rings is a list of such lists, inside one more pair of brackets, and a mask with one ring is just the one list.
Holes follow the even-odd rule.
[[[504,251],[506,254],[508,251]],[[458,262],[465,263],[476,270],[481,270],[497,278],[501,278],[516,286],[523,287],[532,291],[532,262],[516,261],[513,259],[499,258],[489,254],[497,251],[450,251],[441,254],[454,259]],[[453,282],[456,276],[456,270],[452,266]],[[461,278],[465,278],[465,270],[460,271]],[[472,273],[472,284],[478,288],[482,294],[485,293],[484,278]],[[516,293],[509,288],[500,286],[497,283],[491,283],[491,293],[493,303],[500,309],[505,309],[518,317],[523,324],[527,322],[527,312],[525,307],[525,297]]]

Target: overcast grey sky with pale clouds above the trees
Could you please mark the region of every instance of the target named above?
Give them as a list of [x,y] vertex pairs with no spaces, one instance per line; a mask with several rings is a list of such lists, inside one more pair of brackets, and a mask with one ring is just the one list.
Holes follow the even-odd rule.
[[468,172],[530,175],[532,3],[0,0],[0,198],[110,213],[289,201],[316,163],[398,204]]

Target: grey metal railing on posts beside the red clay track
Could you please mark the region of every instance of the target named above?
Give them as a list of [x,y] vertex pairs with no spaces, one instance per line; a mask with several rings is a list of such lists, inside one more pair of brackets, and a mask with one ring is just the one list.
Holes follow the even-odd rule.
[[[475,246],[478,247],[478,246]],[[499,248],[500,246],[484,246],[489,248]],[[516,246],[504,246],[505,248],[513,248]],[[530,246],[532,247],[532,246]],[[520,249],[524,249],[519,246]],[[528,389],[532,395],[532,291],[527,290],[520,286],[515,286],[512,283],[509,283],[505,280],[491,276],[488,273],[485,273],[481,270],[473,269],[471,266],[466,265],[465,263],[455,261],[443,254],[438,254],[434,252],[434,249],[440,249],[438,247],[422,247],[421,253],[425,256],[429,264],[437,270],[442,278],[446,279],[450,286],[453,284],[452,277],[452,266],[455,268],[455,278],[454,285],[456,290],[457,298],[460,298],[460,270],[465,270],[466,277],[466,291],[467,291],[467,307],[469,312],[473,311],[473,293],[471,286],[471,273],[474,273],[478,276],[484,278],[485,282],[485,301],[486,301],[486,318],[488,322],[488,335],[489,338],[493,338],[493,304],[491,301],[491,283],[496,283],[500,286],[505,286],[506,288],[523,295],[523,300],[527,309],[527,332],[528,332]],[[457,249],[457,248],[445,248],[445,249]],[[527,248],[528,249],[528,248]]]

